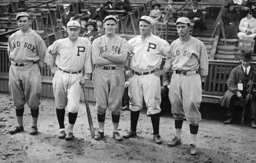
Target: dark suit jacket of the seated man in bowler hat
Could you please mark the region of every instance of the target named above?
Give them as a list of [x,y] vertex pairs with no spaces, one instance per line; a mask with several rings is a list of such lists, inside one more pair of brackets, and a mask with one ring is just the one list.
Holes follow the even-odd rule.
[[[253,71],[256,73],[256,67],[253,67],[250,65],[250,72],[249,72],[249,79],[252,78],[253,76]],[[241,82],[240,82],[241,81]],[[221,107],[229,107],[230,105],[230,98],[236,93],[233,93],[234,90],[238,90],[237,84],[238,83],[243,83],[243,87],[245,86],[245,79],[244,79],[244,70],[242,65],[239,65],[235,68],[230,73],[230,76],[228,77],[227,80],[227,88],[228,90],[226,91],[225,95],[221,97]]]

